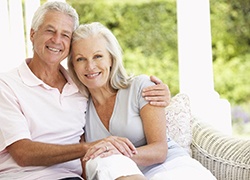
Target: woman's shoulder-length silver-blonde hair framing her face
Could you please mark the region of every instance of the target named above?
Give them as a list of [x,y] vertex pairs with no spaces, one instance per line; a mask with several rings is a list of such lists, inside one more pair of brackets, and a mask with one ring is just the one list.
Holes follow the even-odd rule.
[[[124,89],[127,88],[133,76],[129,76],[123,66],[122,62],[122,49],[121,46],[114,36],[114,34],[104,25],[99,22],[93,22],[90,24],[80,25],[72,36],[72,45],[74,42],[86,39],[90,36],[101,35],[106,40],[106,49],[109,52],[112,59],[112,67],[110,72],[110,85],[114,89]],[[75,81],[76,85],[80,90],[84,89],[84,85],[78,79],[73,63],[72,63],[72,49],[68,57],[68,68],[72,79]],[[86,88],[85,88],[86,89]]]

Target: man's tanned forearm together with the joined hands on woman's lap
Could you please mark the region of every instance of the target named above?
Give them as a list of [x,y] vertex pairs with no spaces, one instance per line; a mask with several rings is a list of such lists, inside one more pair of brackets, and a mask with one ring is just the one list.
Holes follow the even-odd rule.
[[[108,151],[107,151],[108,148]],[[107,137],[87,143],[82,138],[78,144],[58,145],[22,139],[7,147],[7,151],[19,166],[51,166],[74,159],[102,157],[122,153],[131,157],[136,148],[126,138]]]

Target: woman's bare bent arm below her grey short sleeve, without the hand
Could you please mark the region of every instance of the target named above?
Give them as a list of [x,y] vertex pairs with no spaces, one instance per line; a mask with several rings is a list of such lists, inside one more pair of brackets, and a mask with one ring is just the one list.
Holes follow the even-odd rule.
[[147,145],[138,147],[138,154],[132,159],[140,166],[162,163],[168,152],[164,108],[147,104],[141,109],[140,116]]

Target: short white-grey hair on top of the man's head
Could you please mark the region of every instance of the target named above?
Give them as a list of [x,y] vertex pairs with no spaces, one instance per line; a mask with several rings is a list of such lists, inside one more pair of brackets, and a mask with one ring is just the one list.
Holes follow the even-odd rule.
[[75,30],[79,26],[78,14],[72,6],[70,6],[66,2],[50,1],[44,3],[36,10],[31,23],[31,28],[34,29],[34,31],[38,30],[40,25],[43,23],[44,16],[49,11],[59,11],[72,17],[74,20],[73,30]]

